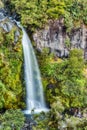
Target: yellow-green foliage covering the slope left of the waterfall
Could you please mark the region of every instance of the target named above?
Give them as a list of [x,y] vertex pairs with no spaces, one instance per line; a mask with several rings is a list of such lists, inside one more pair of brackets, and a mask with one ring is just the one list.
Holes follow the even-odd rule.
[[1,30],[0,34],[0,108],[5,109],[24,107],[22,45],[21,36],[14,45],[16,29],[7,34]]

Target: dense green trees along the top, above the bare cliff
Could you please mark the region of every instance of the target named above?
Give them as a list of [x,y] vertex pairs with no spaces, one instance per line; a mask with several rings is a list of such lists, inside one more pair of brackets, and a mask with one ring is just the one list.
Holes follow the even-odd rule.
[[68,31],[87,24],[86,0],[4,0],[11,13],[21,17],[21,23],[31,30],[44,27],[50,19],[64,18]]

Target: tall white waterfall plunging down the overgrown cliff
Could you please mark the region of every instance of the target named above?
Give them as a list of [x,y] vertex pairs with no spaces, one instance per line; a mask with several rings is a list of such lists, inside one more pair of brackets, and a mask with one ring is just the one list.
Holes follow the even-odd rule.
[[32,110],[35,113],[41,111],[47,111],[43,86],[41,82],[40,71],[37,63],[37,59],[31,44],[31,41],[22,27],[23,38],[23,52],[24,52],[24,74],[26,84],[26,105],[27,108],[24,111],[25,114],[30,114]]

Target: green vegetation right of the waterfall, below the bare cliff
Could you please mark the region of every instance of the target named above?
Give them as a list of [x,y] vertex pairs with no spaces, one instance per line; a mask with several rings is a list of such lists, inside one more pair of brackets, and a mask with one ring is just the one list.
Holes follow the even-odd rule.
[[34,129],[86,130],[87,66],[82,50],[71,50],[69,57],[63,60],[49,56],[45,50],[38,59],[51,111],[35,117],[39,125]]

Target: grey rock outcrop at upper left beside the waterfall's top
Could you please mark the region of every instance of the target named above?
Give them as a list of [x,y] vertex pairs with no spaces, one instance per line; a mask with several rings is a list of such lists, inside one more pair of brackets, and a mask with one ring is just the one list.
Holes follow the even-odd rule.
[[6,34],[14,30],[14,44],[17,43],[20,36],[20,30],[17,25],[15,25],[14,20],[7,15],[7,12],[4,10],[4,8],[0,8],[0,29],[1,28],[3,29],[2,33]]

